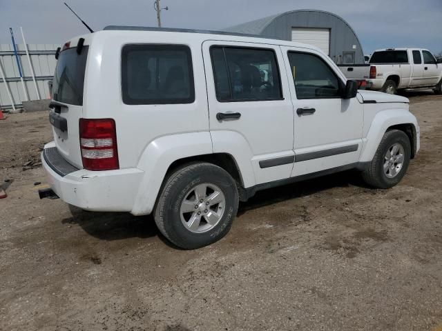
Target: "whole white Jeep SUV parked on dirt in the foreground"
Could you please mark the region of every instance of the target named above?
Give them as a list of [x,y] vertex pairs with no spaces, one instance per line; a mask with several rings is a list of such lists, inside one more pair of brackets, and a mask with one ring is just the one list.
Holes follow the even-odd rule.
[[419,150],[406,98],[358,91],[314,46],[110,26],[57,57],[41,197],[153,213],[181,248],[218,241],[265,188],[352,168],[391,188]]

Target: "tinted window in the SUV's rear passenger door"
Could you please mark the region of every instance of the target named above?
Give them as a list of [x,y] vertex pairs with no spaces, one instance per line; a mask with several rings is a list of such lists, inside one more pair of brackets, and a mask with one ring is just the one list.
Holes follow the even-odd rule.
[[211,48],[218,101],[282,99],[276,54],[264,48]]

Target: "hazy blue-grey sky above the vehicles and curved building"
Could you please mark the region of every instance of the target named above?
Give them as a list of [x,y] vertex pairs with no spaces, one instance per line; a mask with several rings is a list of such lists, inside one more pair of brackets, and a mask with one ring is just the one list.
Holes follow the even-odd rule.
[[[156,26],[153,0],[65,0],[93,29],[108,25]],[[163,26],[219,30],[271,14],[319,9],[343,17],[365,54],[376,48],[422,47],[442,52],[442,0],[161,0]],[[9,28],[21,43],[64,43],[87,32],[62,0],[0,0],[0,43]]]

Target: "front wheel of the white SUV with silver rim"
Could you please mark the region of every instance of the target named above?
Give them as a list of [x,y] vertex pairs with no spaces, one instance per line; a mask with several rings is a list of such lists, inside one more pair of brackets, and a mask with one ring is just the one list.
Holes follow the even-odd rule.
[[400,130],[385,132],[363,179],[374,188],[392,188],[401,181],[410,163],[411,144]]

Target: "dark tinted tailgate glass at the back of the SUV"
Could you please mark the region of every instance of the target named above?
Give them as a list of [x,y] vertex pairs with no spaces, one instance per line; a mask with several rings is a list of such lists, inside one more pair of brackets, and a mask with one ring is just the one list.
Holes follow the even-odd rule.
[[77,54],[77,48],[68,48],[60,53],[55,67],[52,99],[70,105],[83,105],[84,73],[88,46]]

